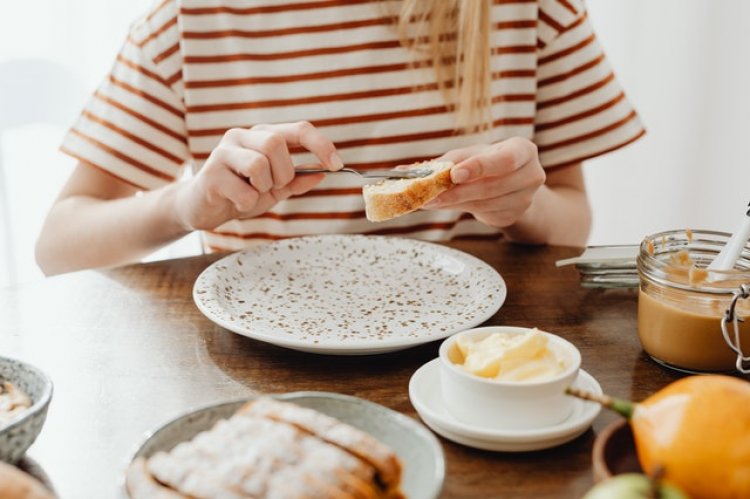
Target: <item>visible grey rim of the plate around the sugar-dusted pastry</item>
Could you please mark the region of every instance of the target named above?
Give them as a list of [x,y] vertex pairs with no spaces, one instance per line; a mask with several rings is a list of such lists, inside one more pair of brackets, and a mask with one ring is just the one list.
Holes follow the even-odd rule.
[[[403,491],[409,499],[433,499],[440,493],[445,477],[443,449],[437,438],[412,418],[382,405],[338,393],[292,392],[274,397],[333,416],[388,445],[403,462]],[[180,442],[211,428],[219,419],[228,418],[247,400],[251,399],[205,407],[170,421],[147,435],[132,459],[171,450]],[[122,490],[127,497],[124,485]]]

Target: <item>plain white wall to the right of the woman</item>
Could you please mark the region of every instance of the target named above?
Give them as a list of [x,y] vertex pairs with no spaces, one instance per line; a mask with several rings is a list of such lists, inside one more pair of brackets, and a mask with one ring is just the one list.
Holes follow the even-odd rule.
[[750,2],[588,0],[648,135],[589,161],[591,244],[734,231],[750,201]]

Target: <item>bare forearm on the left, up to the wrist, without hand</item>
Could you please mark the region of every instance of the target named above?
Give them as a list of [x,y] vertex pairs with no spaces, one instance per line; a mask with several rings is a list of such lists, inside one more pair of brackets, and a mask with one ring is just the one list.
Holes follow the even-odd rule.
[[36,246],[47,275],[137,261],[188,233],[175,216],[176,184],[143,195],[73,195],[50,211]]

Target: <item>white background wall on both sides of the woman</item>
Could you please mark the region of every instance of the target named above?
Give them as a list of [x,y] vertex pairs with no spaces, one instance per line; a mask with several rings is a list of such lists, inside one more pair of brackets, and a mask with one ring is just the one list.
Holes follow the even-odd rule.
[[[0,241],[0,286],[41,278],[34,240],[73,167],[57,152],[60,138],[106,74],[128,25],[150,3],[0,0],[0,72],[11,60],[43,59],[61,66],[81,90],[59,104],[70,109],[68,122],[0,133],[5,170],[0,201],[10,211],[10,238]],[[750,201],[750,2],[588,0],[588,5],[649,131],[627,149],[587,163],[595,212],[590,243],[636,243],[645,234],[680,227],[734,230]],[[0,93],[0,104],[29,97],[29,82],[16,78],[15,86]],[[5,238],[2,224],[0,219]],[[195,251],[195,241],[183,241],[160,256]],[[7,269],[1,262],[9,252],[15,263]]]

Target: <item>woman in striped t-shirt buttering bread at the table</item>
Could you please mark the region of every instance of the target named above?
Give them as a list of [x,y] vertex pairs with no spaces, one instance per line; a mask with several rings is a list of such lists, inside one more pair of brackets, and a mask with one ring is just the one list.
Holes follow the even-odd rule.
[[[582,245],[581,162],[643,133],[579,0],[164,0],[63,143],[79,165],[37,261],[123,264],[193,230],[213,249],[319,233]],[[456,185],[382,224],[358,180],[294,171],[435,157]]]

